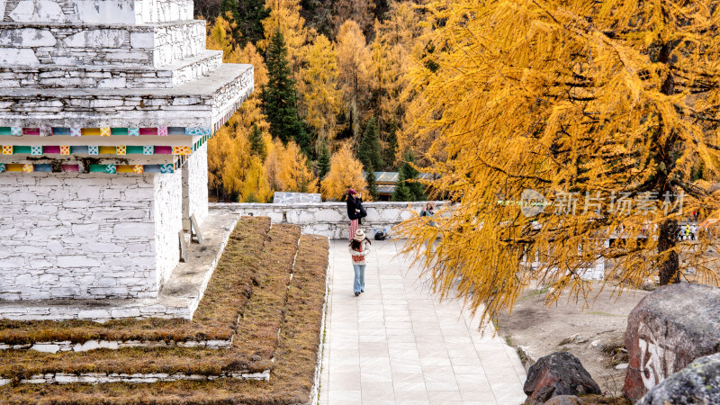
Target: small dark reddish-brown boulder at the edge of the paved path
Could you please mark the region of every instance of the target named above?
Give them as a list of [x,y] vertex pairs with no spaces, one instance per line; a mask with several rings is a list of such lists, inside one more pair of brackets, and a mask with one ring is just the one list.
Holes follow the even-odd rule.
[[523,386],[526,403],[541,404],[558,395],[585,395],[600,393],[598,383],[570,353],[555,352],[540,357],[527,371]]

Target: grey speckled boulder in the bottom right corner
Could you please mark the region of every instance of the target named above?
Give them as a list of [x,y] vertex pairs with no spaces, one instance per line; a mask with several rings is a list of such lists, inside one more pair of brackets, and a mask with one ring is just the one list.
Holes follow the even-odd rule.
[[720,404],[720,353],[700,357],[662,380],[638,405]]

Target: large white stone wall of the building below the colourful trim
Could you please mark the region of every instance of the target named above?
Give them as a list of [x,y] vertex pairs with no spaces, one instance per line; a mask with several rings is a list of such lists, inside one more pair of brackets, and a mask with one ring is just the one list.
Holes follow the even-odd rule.
[[0,175],[0,300],[156,296],[178,259],[180,183],[179,173]]

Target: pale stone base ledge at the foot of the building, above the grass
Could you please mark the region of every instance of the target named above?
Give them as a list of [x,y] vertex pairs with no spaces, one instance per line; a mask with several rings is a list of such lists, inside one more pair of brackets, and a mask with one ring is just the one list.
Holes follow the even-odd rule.
[[[202,245],[188,244],[189,263],[175,267],[170,279],[154,299],[0,301],[0,319],[94,320],[121,318],[180,318],[192,320],[202,300],[238,215],[211,213],[202,224]],[[208,253],[211,252],[211,253]]]

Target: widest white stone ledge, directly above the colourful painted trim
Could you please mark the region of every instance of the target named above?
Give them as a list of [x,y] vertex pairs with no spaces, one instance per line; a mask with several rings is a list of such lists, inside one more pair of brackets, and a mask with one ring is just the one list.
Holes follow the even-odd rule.
[[222,64],[173,88],[0,89],[0,126],[217,129],[254,90],[252,65]]

